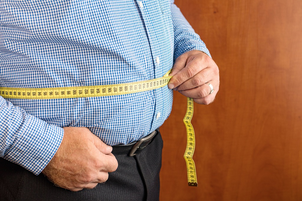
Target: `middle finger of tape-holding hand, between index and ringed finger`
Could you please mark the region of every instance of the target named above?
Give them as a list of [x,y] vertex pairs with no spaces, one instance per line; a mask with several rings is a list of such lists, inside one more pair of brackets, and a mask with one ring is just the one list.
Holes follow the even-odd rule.
[[214,76],[213,70],[211,68],[205,68],[197,75],[193,76],[192,78],[188,79],[178,87],[174,89],[177,91],[183,91],[187,89],[192,89],[198,86],[203,85],[207,80],[211,80]]

